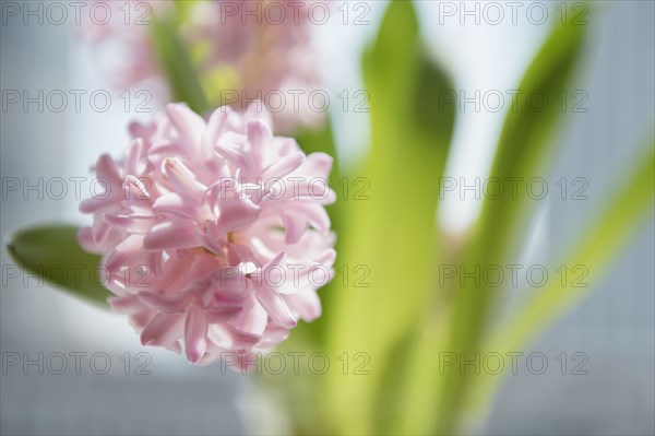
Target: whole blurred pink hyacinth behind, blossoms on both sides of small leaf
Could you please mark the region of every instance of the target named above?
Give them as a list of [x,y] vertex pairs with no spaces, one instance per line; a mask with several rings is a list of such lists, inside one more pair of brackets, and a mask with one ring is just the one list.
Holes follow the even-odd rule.
[[[108,24],[87,20],[81,35],[92,43],[102,70],[114,86],[144,86],[158,101],[166,102],[170,90],[152,46],[151,26],[144,23],[155,15],[180,12],[168,1],[109,3],[112,20]],[[314,3],[330,2],[188,3],[191,5],[183,13],[178,34],[192,54],[205,91],[216,94],[210,95],[212,103],[245,110],[253,101],[261,101],[282,132],[320,125],[325,108],[318,106],[321,98],[317,97],[319,103],[310,98],[312,92],[322,91],[317,49],[311,44],[309,11]],[[129,17],[126,10],[131,11]]]

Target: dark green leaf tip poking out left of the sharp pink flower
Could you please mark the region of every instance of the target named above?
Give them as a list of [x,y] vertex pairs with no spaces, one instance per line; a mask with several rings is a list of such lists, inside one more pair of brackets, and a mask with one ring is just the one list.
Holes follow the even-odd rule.
[[53,287],[108,307],[111,293],[99,276],[100,257],[84,251],[76,235],[72,225],[27,228],[10,235],[7,249],[16,264]]

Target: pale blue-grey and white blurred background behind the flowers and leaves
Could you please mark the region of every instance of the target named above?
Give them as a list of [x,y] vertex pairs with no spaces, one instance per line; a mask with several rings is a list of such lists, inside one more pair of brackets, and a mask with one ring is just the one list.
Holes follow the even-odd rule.
[[[374,36],[384,1],[366,3],[369,24],[344,25],[331,20],[313,26],[321,52],[323,76],[331,96],[343,90],[364,89],[359,58]],[[437,1],[418,1],[421,32],[427,48],[446,66],[457,90],[512,90],[548,33],[548,23],[520,20],[492,25],[483,20],[464,24],[442,20]],[[467,2],[474,8],[476,2]],[[478,2],[479,3],[479,2]],[[47,4],[47,3],[46,3]],[[455,4],[455,3],[453,3]],[[463,3],[462,3],[463,4]],[[479,4],[484,4],[479,3]],[[526,5],[531,2],[525,2]],[[543,2],[556,16],[560,2]],[[655,2],[591,2],[590,37],[571,90],[582,90],[586,111],[571,113],[559,134],[549,181],[567,177],[587,180],[587,200],[543,202],[532,229],[525,259],[545,263],[574,238],[584,223],[617,187],[617,174],[639,158],[644,132],[655,114]],[[93,52],[76,40],[74,25],[56,25],[35,17],[2,16],[0,64],[2,114],[0,128],[2,203],[0,233],[50,221],[82,224],[71,177],[87,177],[98,153],[114,154],[127,145],[127,122],[152,114],[126,110],[120,93],[109,91],[93,62]],[[70,24],[70,23],[69,23]],[[24,109],[7,104],[8,90],[36,96],[62,90],[69,106],[61,113],[38,104]],[[70,90],[84,90],[75,111]],[[108,90],[107,111],[92,108],[88,95]],[[156,103],[145,108],[157,109]],[[505,108],[507,109],[507,108]],[[481,177],[489,170],[495,143],[505,110],[460,110],[454,152],[446,176]],[[348,167],[366,153],[367,114],[333,110],[340,158]],[[62,198],[48,195],[52,178],[68,180]],[[41,188],[9,190],[19,180]],[[83,189],[88,185],[82,182]],[[55,188],[53,188],[55,189]],[[57,192],[59,192],[57,190]],[[85,192],[83,190],[83,195]],[[51,193],[51,192],[50,192]],[[41,198],[39,198],[39,195]],[[479,212],[479,201],[446,196],[440,215],[445,228],[464,229]],[[606,276],[580,306],[548,329],[534,351],[555,357],[562,352],[584,353],[586,375],[510,375],[492,405],[483,434],[653,434],[655,423],[655,226],[648,221],[614,262]],[[120,316],[90,308],[36,279],[13,278],[13,264],[1,252],[0,431],[4,435],[32,434],[250,434],[262,414],[275,417],[274,401],[253,402],[258,389],[250,377],[219,366],[192,367],[172,353],[143,349]],[[24,283],[23,280],[27,280]],[[140,352],[147,357],[140,362]],[[104,375],[88,368],[71,368],[62,375],[47,368],[5,367],[5,358],[24,353],[106,353],[111,368]],[[126,353],[132,366],[124,374]],[[151,374],[134,374],[144,363]],[[569,372],[570,373],[570,372]],[[272,404],[273,403],[273,404]],[[171,412],[174,411],[174,412]]]

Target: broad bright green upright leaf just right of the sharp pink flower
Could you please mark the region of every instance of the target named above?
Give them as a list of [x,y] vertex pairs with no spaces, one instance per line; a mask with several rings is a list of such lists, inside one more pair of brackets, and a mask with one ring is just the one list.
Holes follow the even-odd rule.
[[348,186],[358,188],[353,182],[360,178],[368,189],[367,197],[347,200],[340,234],[347,240],[340,252],[344,270],[335,279],[346,285],[330,302],[327,350],[335,358],[365,353],[370,374],[353,374],[353,361],[348,375],[326,374],[330,413],[335,432],[344,434],[376,433],[388,411],[379,405],[393,403],[388,366],[397,362],[393,351],[422,314],[433,280],[438,179],[454,120],[454,106],[452,113],[438,109],[439,93],[453,86],[427,58],[409,1],[391,2],[365,54],[364,75],[372,143]]

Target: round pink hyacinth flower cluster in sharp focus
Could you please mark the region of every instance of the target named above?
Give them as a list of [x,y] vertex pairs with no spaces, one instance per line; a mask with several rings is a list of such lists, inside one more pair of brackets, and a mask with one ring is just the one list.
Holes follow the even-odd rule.
[[106,190],[81,203],[93,224],[79,239],[103,255],[109,303],[143,344],[246,365],[320,316],[336,257],[332,158],[274,137],[267,118],[222,107],[205,120],[171,104],[131,126],[123,158],[98,158]]

